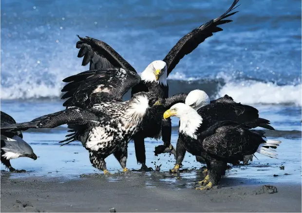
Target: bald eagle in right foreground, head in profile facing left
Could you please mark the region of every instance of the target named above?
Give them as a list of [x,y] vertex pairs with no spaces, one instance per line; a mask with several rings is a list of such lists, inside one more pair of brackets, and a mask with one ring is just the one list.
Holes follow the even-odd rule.
[[[248,111],[247,115],[245,111]],[[223,121],[233,114],[236,121]],[[201,156],[207,163],[208,174],[198,182],[196,189],[210,189],[225,175],[227,163],[243,160],[246,155],[258,152],[274,158],[270,148],[277,148],[280,141],[264,141],[264,131],[251,130],[257,122],[258,110],[241,104],[214,103],[198,111],[178,103],[170,107],[164,118],[176,116],[180,119],[179,137],[183,147],[192,155]],[[247,117],[245,117],[247,116]],[[249,118],[248,118],[249,117]],[[244,123],[243,120],[251,121]]]

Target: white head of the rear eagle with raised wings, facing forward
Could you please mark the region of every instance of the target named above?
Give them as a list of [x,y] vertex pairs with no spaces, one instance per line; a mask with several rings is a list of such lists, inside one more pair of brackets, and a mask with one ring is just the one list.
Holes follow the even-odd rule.
[[145,82],[157,82],[167,85],[167,64],[164,61],[153,61],[142,72],[141,79]]

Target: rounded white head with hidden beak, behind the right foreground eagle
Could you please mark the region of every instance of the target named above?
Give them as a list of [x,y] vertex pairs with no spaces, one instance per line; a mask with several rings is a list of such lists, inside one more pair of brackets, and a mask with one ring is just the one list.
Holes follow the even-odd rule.
[[210,98],[205,91],[195,89],[189,92],[185,103],[186,105],[191,106],[193,109],[197,110],[202,106],[210,104]]

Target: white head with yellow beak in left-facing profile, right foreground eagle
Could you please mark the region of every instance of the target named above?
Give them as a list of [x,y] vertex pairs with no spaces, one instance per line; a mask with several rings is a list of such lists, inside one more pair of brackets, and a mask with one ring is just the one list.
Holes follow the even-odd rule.
[[164,119],[171,116],[180,119],[179,132],[182,132],[193,139],[197,139],[195,132],[202,124],[203,119],[195,109],[186,104],[177,103],[164,113]]

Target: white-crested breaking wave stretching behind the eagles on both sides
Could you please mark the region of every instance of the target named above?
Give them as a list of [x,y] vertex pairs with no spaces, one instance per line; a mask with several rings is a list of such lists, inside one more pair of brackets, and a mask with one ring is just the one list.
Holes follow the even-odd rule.
[[[217,77],[214,79],[196,79],[175,73],[169,77],[170,95],[189,92],[193,89],[205,90],[211,98],[225,94],[234,101],[243,104],[282,104],[302,106],[302,87],[298,85],[277,85],[271,82],[256,80],[229,80]],[[53,79],[54,80],[54,79]],[[14,99],[59,99],[64,86],[57,78],[56,84],[34,83],[23,81],[9,87],[1,85],[1,100]],[[126,97],[129,98],[129,95]]]

